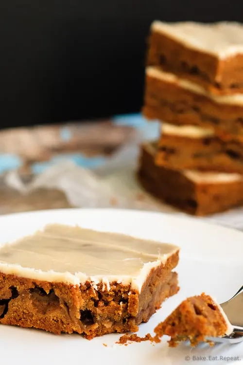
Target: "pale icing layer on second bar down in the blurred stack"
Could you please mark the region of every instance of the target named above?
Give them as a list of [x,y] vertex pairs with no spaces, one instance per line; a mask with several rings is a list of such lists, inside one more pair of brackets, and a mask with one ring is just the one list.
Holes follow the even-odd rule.
[[164,72],[161,69],[158,69],[153,66],[149,66],[146,68],[146,74],[150,77],[154,77],[156,79],[160,79],[169,82],[171,84],[175,84],[176,86],[179,86],[182,89],[192,91],[199,95],[207,96],[208,99],[211,99],[212,101],[218,104],[229,104],[236,106],[243,105],[243,94],[212,95],[203,87],[191,81],[179,78],[173,73]]

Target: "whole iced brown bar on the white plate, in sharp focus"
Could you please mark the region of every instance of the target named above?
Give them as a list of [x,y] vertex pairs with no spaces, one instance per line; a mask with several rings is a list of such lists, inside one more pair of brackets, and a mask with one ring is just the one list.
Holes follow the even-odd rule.
[[51,224],[0,247],[0,324],[91,339],[137,331],[178,290],[179,248]]

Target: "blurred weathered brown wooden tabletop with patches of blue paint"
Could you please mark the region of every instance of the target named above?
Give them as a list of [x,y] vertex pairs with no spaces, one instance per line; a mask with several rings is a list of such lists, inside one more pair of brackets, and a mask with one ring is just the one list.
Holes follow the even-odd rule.
[[[135,114],[87,123],[1,130],[0,178],[17,170],[22,181],[31,181],[67,158],[86,168],[102,165],[104,158],[106,161],[111,158],[146,123]],[[2,182],[0,202],[0,214],[71,206],[60,190],[37,189],[26,195]]]

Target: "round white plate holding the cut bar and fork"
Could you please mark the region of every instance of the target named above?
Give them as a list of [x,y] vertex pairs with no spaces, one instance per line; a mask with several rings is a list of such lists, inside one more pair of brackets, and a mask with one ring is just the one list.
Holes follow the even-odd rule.
[[[156,324],[187,296],[206,292],[223,302],[243,285],[243,233],[199,219],[113,209],[22,213],[0,217],[0,243],[25,236],[46,223],[54,222],[162,240],[181,247],[180,263],[176,269],[181,289],[148,323],[140,325],[140,336],[153,333]],[[76,334],[56,336],[35,329],[2,325],[0,364],[222,365],[240,364],[240,359],[243,362],[243,344],[221,344],[213,348],[202,345],[194,349],[182,344],[169,348],[167,338],[164,338],[161,344],[142,342],[124,346],[115,344],[119,337],[111,334],[88,341]],[[226,357],[238,357],[238,360]]]

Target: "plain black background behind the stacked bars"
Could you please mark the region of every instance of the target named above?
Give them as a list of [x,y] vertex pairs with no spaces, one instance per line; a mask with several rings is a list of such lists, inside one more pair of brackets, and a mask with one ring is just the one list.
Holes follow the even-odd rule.
[[0,0],[0,127],[138,111],[154,19],[243,21],[243,2]]

